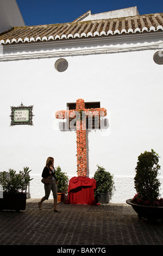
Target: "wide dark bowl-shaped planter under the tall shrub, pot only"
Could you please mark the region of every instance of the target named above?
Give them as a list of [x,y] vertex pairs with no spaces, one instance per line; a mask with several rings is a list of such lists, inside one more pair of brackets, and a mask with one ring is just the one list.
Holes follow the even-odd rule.
[[132,199],[126,200],[126,203],[132,206],[139,218],[146,218],[147,220],[163,220],[162,206],[140,205],[134,203]]

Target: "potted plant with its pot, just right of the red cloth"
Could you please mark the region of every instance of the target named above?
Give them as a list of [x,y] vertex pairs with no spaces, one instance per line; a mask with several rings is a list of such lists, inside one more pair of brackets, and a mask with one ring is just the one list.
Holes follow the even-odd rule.
[[93,176],[93,179],[96,180],[95,198],[98,203],[107,204],[115,190],[114,176],[98,164],[97,167],[98,169]]

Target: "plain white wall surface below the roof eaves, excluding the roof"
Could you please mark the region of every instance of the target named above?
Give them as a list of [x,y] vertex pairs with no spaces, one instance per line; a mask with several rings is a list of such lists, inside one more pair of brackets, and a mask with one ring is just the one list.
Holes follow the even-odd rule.
[[[88,133],[90,178],[99,164],[115,177],[113,203],[133,197],[137,156],[154,149],[163,166],[162,66],[153,62],[155,52],[66,56],[65,72],[54,68],[58,57],[0,62],[1,171],[32,169],[31,197],[43,196],[40,180],[48,156],[70,178],[77,176],[76,132],[60,131],[55,112],[79,98],[100,101],[109,128]],[[34,105],[33,126],[10,126],[10,106],[21,102]]]

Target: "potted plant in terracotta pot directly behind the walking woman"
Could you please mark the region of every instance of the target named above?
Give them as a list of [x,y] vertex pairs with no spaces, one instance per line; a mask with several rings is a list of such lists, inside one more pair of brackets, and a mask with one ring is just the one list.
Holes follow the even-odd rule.
[[68,181],[69,181],[68,176],[67,176],[67,173],[62,172],[61,168],[58,166],[57,168],[55,168],[55,178],[58,181],[58,184],[57,184],[57,194],[58,194],[57,201],[62,202],[62,201],[64,201],[65,194],[68,191]]

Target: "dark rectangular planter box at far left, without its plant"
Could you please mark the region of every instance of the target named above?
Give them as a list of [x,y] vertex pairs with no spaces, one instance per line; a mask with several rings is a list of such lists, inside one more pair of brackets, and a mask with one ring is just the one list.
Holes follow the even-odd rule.
[[3,194],[0,198],[0,210],[26,210],[26,193]]

